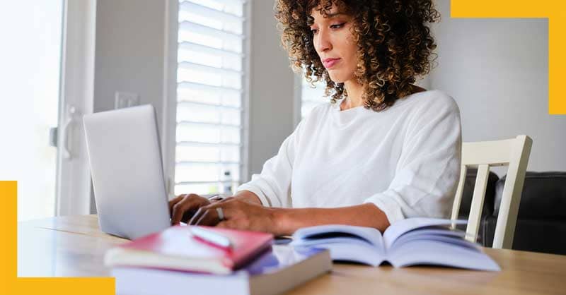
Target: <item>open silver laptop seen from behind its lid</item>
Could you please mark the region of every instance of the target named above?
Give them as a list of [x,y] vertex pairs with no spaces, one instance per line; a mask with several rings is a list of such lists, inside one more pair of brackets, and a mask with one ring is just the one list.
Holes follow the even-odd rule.
[[169,227],[154,107],[83,117],[100,229],[136,239]]

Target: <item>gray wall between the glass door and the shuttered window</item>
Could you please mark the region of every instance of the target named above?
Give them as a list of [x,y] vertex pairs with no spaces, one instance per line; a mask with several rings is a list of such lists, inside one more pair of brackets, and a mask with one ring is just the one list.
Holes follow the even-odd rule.
[[153,104],[163,133],[166,1],[98,0],[94,112],[114,109],[116,91]]

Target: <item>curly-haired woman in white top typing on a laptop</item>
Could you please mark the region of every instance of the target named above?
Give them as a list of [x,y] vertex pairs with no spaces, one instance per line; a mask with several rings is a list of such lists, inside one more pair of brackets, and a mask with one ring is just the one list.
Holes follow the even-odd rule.
[[279,0],[275,9],[294,70],[323,80],[331,102],[313,109],[233,197],[171,200],[173,224],[192,216],[190,224],[285,235],[446,217],[459,176],[458,107],[444,92],[412,85],[436,47],[426,25],[439,18],[432,0]]

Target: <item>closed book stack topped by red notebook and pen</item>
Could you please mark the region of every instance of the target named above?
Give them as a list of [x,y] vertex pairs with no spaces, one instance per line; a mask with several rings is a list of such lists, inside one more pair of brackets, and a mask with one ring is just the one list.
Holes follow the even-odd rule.
[[332,261],[325,249],[274,245],[271,234],[176,226],[110,249],[105,265],[116,294],[269,295],[330,271]]

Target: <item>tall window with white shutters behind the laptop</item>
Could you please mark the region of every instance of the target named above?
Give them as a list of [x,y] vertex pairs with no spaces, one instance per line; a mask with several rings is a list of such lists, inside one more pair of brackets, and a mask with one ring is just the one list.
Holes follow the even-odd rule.
[[246,1],[181,0],[175,195],[228,193],[245,152]]

